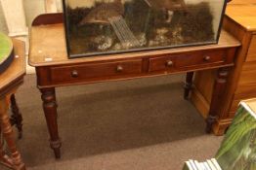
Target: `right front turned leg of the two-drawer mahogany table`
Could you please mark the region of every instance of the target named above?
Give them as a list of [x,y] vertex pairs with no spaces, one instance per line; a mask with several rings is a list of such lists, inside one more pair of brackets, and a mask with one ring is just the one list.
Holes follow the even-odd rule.
[[220,68],[217,71],[217,77],[214,83],[214,89],[212,92],[212,99],[210,104],[210,110],[206,119],[206,132],[211,133],[212,125],[216,122],[220,107],[222,105],[222,99],[225,94],[227,85],[227,79],[229,76],[229,68]]

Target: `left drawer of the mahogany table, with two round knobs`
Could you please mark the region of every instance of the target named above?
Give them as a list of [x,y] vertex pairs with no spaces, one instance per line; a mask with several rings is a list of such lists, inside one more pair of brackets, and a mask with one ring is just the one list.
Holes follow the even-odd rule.
[[76,82],[80,80],[110,79],[111,77],[125,77],[140,74],[142,60],[115,61],[106,63],[87,63],[73,66],[58,66],[51,68],[51,80],[54,83]]

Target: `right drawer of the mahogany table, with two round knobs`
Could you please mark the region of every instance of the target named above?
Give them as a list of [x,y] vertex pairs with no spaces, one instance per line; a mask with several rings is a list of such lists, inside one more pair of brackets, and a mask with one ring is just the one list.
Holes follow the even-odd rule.
[[172,71],[223,62],[225,62],[225,51],[196,51],[192,54],[184,53],[151,58],[149,59],[149,72]]

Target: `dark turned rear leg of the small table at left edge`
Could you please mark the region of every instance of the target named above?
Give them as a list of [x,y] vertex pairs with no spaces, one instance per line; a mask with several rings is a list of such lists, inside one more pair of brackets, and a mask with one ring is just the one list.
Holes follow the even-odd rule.
[[16,127],[18,128],[19,131],[19,139],[22,137],[22,116],[19,111],[19,107],[16,102],[15,94],[11,95],[11,108],[13,115],[11,117],[11,123],[14,125],[16,124]]

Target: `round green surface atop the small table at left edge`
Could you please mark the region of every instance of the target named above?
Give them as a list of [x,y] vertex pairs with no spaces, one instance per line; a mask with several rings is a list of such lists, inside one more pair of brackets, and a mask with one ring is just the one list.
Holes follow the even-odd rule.
[[4,61],[10,56],[12,51],[12,40],[8,36],[0,32],[0,64],[4,63]]

